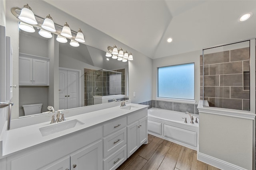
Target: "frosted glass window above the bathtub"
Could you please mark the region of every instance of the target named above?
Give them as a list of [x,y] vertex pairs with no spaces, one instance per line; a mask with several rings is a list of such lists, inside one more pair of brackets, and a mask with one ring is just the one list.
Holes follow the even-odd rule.
[[194,63],[159,67],[158,97],[194,100]]

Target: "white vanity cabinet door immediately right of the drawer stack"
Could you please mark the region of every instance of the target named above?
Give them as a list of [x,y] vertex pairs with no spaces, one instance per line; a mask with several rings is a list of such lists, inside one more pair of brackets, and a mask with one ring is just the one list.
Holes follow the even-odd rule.
[[127,126],[127,158],[139,148],[139,121]]

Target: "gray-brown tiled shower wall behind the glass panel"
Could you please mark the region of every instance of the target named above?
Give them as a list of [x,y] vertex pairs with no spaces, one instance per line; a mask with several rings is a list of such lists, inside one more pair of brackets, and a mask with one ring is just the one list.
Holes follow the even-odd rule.
[[[204,100],[211,107],[250,110],[250,48],[204,55]],[[200,99],[203,58],[200,56]]]

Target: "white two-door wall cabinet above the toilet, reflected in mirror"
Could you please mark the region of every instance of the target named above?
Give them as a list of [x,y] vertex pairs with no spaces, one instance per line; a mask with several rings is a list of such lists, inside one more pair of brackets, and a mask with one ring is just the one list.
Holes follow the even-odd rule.
[[48,58],[25,54],[19,57],[19,84],[21,86],[47,86],[49,85],[48,73]]

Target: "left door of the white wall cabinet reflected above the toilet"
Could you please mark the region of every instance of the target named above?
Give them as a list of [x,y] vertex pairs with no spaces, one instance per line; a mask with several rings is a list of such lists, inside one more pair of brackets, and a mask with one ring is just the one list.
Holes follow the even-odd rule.
[[33,59],[19,58],[19,84],[33,83]]

